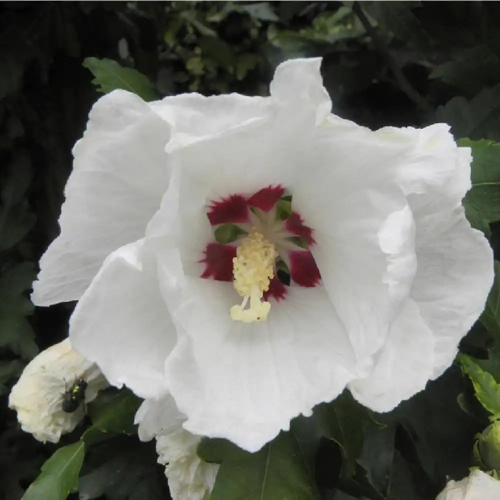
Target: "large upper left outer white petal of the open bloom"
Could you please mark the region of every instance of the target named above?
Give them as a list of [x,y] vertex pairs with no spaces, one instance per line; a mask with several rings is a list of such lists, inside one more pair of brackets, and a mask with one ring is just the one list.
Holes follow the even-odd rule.
[[136,95],[115,90],[92,107],[74,146],[60,235],[40,260],[31,299],[77,300],[113,250],[144,235],[168,185],[169,126]]

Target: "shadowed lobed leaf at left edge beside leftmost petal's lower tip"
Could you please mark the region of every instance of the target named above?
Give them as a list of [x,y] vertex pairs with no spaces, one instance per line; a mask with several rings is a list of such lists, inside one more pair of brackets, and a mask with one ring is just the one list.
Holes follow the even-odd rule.
[[5,270],[0,277],[0,347],[31,359],[38,352],[34,333],[26,316],[34,305],[24,296],[36,277],[32,262],[22,262]]

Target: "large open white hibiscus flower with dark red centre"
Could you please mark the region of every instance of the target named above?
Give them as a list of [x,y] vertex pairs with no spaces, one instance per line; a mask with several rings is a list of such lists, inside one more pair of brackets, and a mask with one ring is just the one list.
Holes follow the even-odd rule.
[[330,114],[319,63],[280,64],[266,98],[99,99],[34,283],[80,299],[71,341],[112,384],[250,451],[346,385],[376,411],[423,389],[493,279],[469,148]]

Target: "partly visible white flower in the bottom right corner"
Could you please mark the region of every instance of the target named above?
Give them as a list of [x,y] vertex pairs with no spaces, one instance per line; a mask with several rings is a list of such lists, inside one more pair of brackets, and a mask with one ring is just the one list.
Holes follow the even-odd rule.
[[475,469],[460,481],[449,481],[436,500],[498,500],[500,481]]

